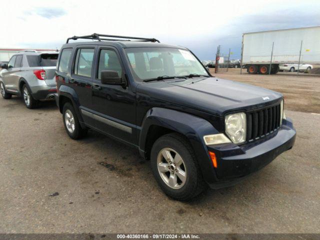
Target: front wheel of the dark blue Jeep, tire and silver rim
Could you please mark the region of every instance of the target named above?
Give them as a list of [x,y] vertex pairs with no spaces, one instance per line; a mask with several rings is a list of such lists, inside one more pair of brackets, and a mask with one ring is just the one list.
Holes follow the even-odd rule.
[[151,149],[152,173],[165,194],[189,200],[206,188],[190,143],[177,133],[158,138]]

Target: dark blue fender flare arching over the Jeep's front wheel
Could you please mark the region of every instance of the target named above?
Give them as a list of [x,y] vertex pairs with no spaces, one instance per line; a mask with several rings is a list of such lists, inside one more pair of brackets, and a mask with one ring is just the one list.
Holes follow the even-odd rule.
[[191,143],[204,179],[207,182],[217,180],[203,140],[204,135],[218,133],[210,122],[185,112],[153,107],[147,111],[142,122],[139,137],[139,148],[142,151],[145,150],[148,130],[152,125],[162,126],[184,135]]

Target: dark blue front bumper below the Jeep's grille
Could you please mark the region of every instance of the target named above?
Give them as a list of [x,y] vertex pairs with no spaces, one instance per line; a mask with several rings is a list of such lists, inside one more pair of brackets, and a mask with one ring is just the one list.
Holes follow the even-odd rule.
[[251,143],[208,146],[217,158],[217,168],[214,169],[217,180],[208,182],[208,185],[216,189],[237,183],[292,148],[295,135],[292,121],[287,118],[276,132]]

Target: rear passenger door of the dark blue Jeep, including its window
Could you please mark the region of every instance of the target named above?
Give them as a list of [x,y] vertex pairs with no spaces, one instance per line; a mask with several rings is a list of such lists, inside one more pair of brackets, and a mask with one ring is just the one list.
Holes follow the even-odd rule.
[[72,87],[78,97],[80,111],[85,123],[92,126],[92,117],[85,114],[92,108],[92,79],[93,79],[93,59],[94,47],[78,47],[75,49],[69,86]]

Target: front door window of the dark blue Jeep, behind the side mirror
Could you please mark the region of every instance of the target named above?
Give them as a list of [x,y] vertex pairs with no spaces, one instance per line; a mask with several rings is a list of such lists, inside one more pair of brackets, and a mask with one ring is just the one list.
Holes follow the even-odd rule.
[[122,68],[115,51],[109,49],[101,49],[98,65],[98,79],[101,78],[101,71],[103,70],[116,71],[118,73],[118,76],[121,77]]

